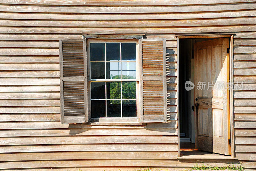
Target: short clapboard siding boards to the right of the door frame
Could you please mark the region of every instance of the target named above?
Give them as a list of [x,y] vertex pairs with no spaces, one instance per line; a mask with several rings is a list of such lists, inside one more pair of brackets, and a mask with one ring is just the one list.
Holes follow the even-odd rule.
[[[236,38],[236,37],[235,37]],[[235,153],[239,160],[256,160],[256,39],[234,40],[234,80],[245,82],[234,91]]]

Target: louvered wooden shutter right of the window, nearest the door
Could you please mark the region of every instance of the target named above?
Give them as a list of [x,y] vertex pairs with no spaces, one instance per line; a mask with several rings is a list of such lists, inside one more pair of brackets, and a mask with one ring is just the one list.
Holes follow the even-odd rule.
[[140,39],[140,122],[167,122],[166,43]]

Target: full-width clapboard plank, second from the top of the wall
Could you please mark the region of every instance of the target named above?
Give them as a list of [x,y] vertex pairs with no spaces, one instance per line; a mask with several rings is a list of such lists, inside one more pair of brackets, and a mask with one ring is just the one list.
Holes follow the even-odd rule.
[[[214,8],[215,7],[215,8]],[[26,8],[20,5],[1,5],[1,11],[3,12],[47,12],[47,13],[167,13],[167,12],[203,12],[203,11],[230,11],[230,10],[248,10],[255,9],[254,3],[243,4],[222,4],[222,5],[192,5],[187,6],[168,6],[168,7],[73,7],[73,6],[29,6]]]

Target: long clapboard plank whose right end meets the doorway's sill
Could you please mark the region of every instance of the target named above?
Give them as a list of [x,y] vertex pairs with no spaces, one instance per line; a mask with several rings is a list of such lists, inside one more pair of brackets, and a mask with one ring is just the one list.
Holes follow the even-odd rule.
[[[24,158],[23,156],[26,156]],[[44,152],[0,154],[0,161],[19,160],[88,160],[88,159],[175,159],[178,152]]]

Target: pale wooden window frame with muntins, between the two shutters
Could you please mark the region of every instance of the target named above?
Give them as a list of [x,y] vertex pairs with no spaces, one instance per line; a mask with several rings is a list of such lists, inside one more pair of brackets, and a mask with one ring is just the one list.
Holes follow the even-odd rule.
[[[136,43],[136,79],[91,79],[91,60],[90,60],[90,43]],[[106,53],[106,50],[105,50]],[[139,84],[139,41],[138,40],[112,40],[112,39],[87,39],[87,67],[88,67],[88,81],[89,81],[89,111],[88,111],[88,119],[89,122],[139,122],[140,121],[140,111],[139,111],[139,101],[140,101],[140,84]],[[106,56],[106,54],[105,54]],[[102,62],[102,61],[101,61]],[[121,62],[121,61],[119,61]],[[122,64],[121,64],[122,70]],[[122,73],[121,73],[122,75]],[[106,76],[106,59],[105,59],[105,76]],[[91,82],[92,81],[102,81],[102,82],[136,82],[136,117],[104,117],[104,118],[91,118]],[[106,84],[105,84],[106,87]],[[106,90],[105,90],[105,93]],[[121,86],[121,94],[122,94],[122,86]],[[115,99],[110,99],[115,100]],[[128,99],[123,99],[128,100]],[[134,99],[133,99],[134,100]],[[107,106],[106,106],[107,108]],[[122,111],[122,103],[121,103],[121,111]],[[106,111],[107,112],[107,111]]]

